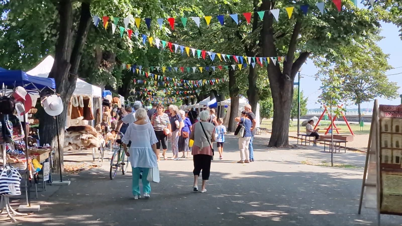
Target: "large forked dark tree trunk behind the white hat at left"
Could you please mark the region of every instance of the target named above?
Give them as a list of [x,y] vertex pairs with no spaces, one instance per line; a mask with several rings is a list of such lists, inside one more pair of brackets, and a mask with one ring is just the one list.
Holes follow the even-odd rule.
[[[61,0],[59,3],[59,34],[56,43],[55,58],[49,77],[55,79],[56,92],[63,101],[64,110],[62,114],[57,116],[58,131],[56,122],[52,116],[45,112],[40,117],[40,141],[41,144],[51,144],[55,150],[60,150],[55,154],[56,162],[61,160],[61,171],[63,171],[63,143],[64,143],[64,127],[66,124],[68,104],[71,95],[75,89],[77,81],[77,71],[82,55],[82,48],[85,44],[86,35],[90,24],[90,5],[89,3],[81,4],[80,21],[78,30],[72,29],[73,10],[71,0]],[[75,35],[75,40],[73,36]],[[57,145],[57,134],[59,134],[59,144]],[[56,164],[56,171],[59,165]]]

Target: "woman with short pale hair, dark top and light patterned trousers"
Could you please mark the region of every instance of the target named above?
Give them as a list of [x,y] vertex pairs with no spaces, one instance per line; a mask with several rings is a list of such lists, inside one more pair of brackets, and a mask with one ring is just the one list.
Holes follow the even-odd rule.
[[172,147],[173,157],[171,160],[179,160],[179,137],[181,137],[181,129],[184,127],[183,119],[179,114],[179,108],[176,105],[169,106],[169,121],[172,127],[170,134],[170,145]]

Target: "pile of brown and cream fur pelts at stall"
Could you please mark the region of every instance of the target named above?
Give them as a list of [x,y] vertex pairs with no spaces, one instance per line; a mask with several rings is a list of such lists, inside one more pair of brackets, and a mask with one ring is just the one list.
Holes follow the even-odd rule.
[[105,147],[105,139],[89,126],[71,126],[64,134],[64,151]]

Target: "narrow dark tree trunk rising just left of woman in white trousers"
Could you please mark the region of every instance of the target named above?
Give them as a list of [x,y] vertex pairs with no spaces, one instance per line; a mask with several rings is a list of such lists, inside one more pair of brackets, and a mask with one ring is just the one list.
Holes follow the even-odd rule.
[[230,115],[229,115],[229,125],[228,131],[235,132],[236,122],[235,118],[238,117],[239,111],[239,87],[236,84],[236,71],[229,70],[229,94],[230,94]]

